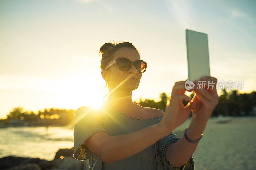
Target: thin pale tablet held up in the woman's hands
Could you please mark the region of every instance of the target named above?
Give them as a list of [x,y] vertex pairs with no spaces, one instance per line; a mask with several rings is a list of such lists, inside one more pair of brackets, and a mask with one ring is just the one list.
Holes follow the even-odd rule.
[[188,80],[194,82],[210,76],[207,34],[186,30]]

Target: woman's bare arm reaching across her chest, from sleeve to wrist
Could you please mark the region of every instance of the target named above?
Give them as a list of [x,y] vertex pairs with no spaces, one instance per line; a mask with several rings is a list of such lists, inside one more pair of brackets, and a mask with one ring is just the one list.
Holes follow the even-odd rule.
[[104,162],[130,157],[168,134],[161,124],[154,124],[139,131],[117,136],[109,136],[106,132],[97,132],[85,141],[85,145]]

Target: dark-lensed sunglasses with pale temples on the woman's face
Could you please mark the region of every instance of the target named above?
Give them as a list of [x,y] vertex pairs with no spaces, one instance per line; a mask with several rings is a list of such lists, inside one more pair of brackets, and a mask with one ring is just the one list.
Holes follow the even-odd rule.
[[143,60],[137,60],[135,62],[132,62],[131,60],[129,60],[127,58],[121,57],[121,58],[118,58],[118,59],[112,61],[110,64],[108,64],[108,66],[105,68],[105,70],[115,63],[117,63],[117,66],[119,67],[119,69],[123,70],[123,71],[130,70],[130,68],[132,67],[132,64],[134,64],[136,70],[139,73],[144,73],[147,68],[147,63]]

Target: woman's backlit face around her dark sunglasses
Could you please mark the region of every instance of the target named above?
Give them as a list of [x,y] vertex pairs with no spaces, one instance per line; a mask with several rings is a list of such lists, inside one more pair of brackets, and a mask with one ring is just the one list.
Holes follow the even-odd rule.
[[[125,57],[131,60],[132,62],[140,60],[140,55],[136,50],[131,48],[120,48],[113,54],[113,59],[109,63],[111,63],[112,61],[120,57]],[[139,73],[136,70],[134,64],[132,65],[130,70],[123,71],[123,70],[120,70],[117,63],[115,63],[111,67],[109,67],[107,70],[105,70],[105,74],[104,76],[102,74],[102,76],[103,78],[105,77],[104,78],[105,80],[107,76],[106,81],[108,81],[109,89],[112,90],[116,86],[120,85],[118,89],[132,91],[138,88],[140,79],[141,79],[141,74],[142,73]],[[135,77],[136,80],[129,80],[128,77]]]

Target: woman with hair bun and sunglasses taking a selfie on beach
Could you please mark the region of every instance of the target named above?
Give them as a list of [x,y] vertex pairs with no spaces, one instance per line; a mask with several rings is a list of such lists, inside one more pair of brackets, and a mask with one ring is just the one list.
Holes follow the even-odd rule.
[[[217,79],[202,77],[213,81],[214,88],[192,89],[192,100],[184,94],[185,81],[177,81],[164,113],[132,102],[147,67],[132,43],[105,43],[100,52],[101,75],[110,93],[100,109],[82,106],[75,111],[74,158],[89,159],[95,170],[194,169],[192,154],[218,104]],[[182,100],[189,103],[184,107]],[[177,138],[172,131],[191,111],[187,138]]]

